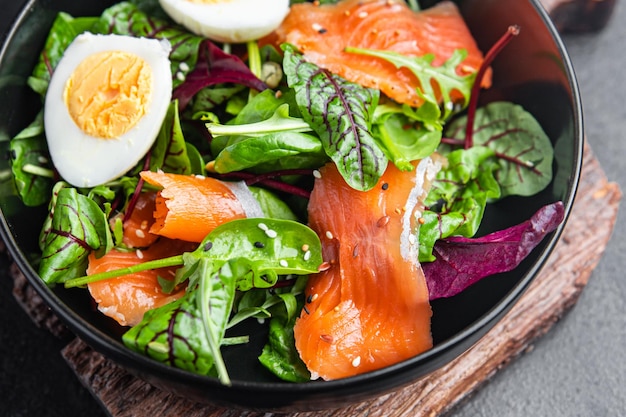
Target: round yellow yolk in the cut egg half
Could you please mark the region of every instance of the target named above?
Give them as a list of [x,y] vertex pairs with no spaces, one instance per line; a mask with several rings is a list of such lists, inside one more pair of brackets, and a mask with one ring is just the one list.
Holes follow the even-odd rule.
[[122,51],[88,56],[65,85],[63,99],[76,125],[101,139],[117,138],[146,114],[152,97],[152,69]]

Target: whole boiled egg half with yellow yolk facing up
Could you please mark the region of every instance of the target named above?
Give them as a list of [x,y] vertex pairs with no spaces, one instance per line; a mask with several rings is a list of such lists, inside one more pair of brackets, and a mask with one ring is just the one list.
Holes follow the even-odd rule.
[[50,80],[44,125],[52,162],[75,187],[116,179],[148,152],[172,96],[167,41],[79,35]]

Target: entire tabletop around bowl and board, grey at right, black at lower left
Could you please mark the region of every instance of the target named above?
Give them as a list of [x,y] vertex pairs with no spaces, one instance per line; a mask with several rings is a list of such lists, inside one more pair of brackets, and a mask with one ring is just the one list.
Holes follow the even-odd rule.
[[[17,14],[16,4],[0,4],[2,13]],[[566,34],[564,41],[581,88],[588,142],[609,180],[624,189],[626,4],[618,1],[604,30]],[[625,221],[621,210],[576,307],[453,417],[626,415]],[[32,324],[12,297],[7,270],[0,257],[0,416],[104,416],[59,353],[67,340]]]

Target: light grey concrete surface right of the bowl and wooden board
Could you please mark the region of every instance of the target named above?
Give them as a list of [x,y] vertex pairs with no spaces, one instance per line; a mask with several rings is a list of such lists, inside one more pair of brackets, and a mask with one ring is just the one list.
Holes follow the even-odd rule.
[[[601,32],[566,35],[564,42],[582,94],[588,142],[624,192],[626,2],[618,2]],[[626,416],[625,236],[622,203],[613,237],[574,309],[453,417]]]

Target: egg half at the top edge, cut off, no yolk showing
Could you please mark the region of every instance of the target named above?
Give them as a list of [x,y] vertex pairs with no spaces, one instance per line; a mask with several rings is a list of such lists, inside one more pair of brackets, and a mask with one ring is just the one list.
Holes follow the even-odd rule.
[[289,0],[159,0],[177,23],[217,42],[243,43],[276,29]]

